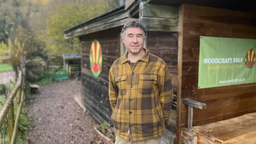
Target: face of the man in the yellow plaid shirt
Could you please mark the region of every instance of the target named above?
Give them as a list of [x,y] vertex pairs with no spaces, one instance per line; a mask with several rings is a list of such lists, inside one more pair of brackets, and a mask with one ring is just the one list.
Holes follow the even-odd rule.
[[140,28],[127,28],[123,42],[127,51],[137,54],[142,49],[143,31]]

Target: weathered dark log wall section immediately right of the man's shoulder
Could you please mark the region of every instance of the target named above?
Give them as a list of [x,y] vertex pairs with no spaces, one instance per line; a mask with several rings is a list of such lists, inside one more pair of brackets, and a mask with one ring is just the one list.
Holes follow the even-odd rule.
[[[177,94],[177,73],[178,73],[178,33],[163,31],[147,32],[147,47],[150,53],[162,58],[169,67],[173,76],[172,86],[174,94]],[[171,110],[169,125],[175,129],[177,115],[177,97],[174,97],[174,104]]]

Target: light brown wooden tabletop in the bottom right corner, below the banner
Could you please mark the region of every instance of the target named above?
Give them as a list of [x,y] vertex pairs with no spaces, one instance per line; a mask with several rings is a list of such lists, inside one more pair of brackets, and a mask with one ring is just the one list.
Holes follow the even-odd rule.
[[[214,122],[207,125],[194,126],[193,131],[203,135],[210,140],[225,141],[236,140],[243,135],[255,133],[256,130],[256,113],[246,114],[239,117],[227,119],[225,121]],[[248,137],[247,140],[250,137]],[[252,138],[251,140],[253,140]],[[256,139],[253,140],[256,142]]]

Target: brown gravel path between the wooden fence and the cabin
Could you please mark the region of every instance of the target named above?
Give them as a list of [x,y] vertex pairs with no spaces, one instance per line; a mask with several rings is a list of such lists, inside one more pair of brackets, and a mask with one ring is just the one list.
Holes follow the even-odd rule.
[[67,80],[42,85],[29,102],[30,143],[97,143],[97,125],[74,100],[81,81]]

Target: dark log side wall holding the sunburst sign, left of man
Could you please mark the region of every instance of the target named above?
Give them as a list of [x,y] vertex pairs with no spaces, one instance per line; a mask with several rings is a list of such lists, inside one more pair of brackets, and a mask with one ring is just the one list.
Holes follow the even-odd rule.
[[[86,108],[99,122],[112,122],[112,113],[108,97],[108,74],[112,63],[120,57],[119,33],[121,28],[102,30],[97,33],[80,37],[82,45],[82,90]],[[90,49],[94,39],[101,44],[102,70],[98,77],[92,75],[90,69]]]

